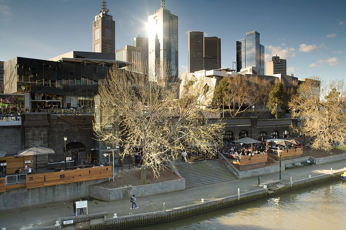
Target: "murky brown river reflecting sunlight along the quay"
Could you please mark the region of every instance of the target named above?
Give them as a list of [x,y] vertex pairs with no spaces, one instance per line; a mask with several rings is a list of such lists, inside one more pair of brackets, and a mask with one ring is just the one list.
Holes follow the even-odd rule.
[[346,181],[335,180],[275,197],[136,230],[346,229]]

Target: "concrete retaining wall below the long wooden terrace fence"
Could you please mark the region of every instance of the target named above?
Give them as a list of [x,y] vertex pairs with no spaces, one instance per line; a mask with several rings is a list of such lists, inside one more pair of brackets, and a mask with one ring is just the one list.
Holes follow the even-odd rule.
[[59,184],[42,188],[9,189],[0,193],[0,210],[19,209],[51,202],[71,201],[89,197],[89,185],[108,179]]

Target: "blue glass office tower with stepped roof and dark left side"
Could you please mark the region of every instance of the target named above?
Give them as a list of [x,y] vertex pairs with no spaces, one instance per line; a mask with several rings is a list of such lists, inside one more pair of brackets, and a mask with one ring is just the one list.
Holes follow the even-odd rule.
[[260,33],[246,33],[246,38],[236,41],[237,72],[264,75],[264,46],[260,44]]

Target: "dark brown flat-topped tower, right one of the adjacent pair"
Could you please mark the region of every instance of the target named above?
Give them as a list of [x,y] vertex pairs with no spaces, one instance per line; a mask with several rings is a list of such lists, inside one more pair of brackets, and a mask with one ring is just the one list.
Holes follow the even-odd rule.
[[204,69],[221,68],[221,39],[218,37],[204,38]]

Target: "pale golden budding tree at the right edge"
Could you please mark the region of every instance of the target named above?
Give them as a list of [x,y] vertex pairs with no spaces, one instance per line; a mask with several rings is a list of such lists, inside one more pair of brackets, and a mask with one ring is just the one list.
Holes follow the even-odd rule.
[[330,151],[334,142],[345,145],[346,112],[341,104],[341,98],[345,96],[344,80],[326,84],[318,77],[306,79],[289,103],[292,116],[301,119],[304,125],[292,127],[311,136],[313,148]]

